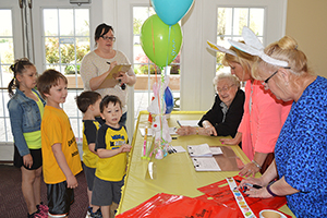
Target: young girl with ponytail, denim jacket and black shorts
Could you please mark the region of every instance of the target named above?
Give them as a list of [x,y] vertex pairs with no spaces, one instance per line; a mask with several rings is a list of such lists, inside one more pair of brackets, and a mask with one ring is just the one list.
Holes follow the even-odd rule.
[[[41,135],[40,123],[45,100],[34,89],[37,72],[28,59],[15,60],[10,66],[14,78],[9,83],[8,102],[11,131],[14,137],[14,166],[22,171],[22,192],[27,205],[27,218],[48,217],[40,201]],[[16,92],[13,93],[13,87]]]

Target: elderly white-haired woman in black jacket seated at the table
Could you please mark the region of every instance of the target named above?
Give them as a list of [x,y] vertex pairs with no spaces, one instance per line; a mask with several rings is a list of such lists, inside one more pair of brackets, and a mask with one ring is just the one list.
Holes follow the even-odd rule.
[[216,95],[213,108],[198,121],[199,128],[181,126],[179,135],[211,135],[232,137],[237,134],[243,116],[245,95],[240,81],[232,74],[219,73],[214,78]]

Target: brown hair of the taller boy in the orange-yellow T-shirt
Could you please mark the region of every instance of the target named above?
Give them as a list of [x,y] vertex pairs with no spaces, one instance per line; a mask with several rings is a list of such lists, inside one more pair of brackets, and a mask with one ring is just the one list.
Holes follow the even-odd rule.
[[53,69],[46,70],[38,77],[37,89],[41,94],[43,98],[46,98],[45,94],[49,94],[50,88],[52,86],[58,85],[60,78],[62,78],[64,81],[64,83],[68,84],[66,77],[62,73],[60,73]]

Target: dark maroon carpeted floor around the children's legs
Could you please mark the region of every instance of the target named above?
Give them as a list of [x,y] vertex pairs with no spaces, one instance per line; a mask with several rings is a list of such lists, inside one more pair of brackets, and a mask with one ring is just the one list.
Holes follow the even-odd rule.
[[[70,218],[85,218],[87,210],[87,184],[82,171],[77,174],[78,186],[74,190],[75,202],[71,205]],[[0,217],[25,218],[27,207],[22,193],[21,170],[12,165],[0,164]],[[41,201],[47,203],[47,187],[41,183]]]

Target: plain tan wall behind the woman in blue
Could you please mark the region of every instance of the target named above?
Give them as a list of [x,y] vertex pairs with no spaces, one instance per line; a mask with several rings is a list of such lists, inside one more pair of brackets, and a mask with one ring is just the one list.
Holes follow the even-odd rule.
[[292,36],[316,74],[327,77],[327,1],[288,0],[286,35]]

